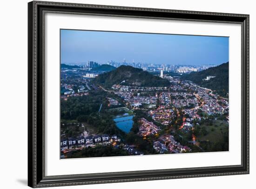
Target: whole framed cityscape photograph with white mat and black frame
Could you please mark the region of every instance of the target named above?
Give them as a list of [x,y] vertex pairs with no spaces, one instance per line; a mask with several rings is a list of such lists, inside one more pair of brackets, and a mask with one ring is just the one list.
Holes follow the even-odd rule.
[[249,174],[249,15],[28,3],[28,186]]

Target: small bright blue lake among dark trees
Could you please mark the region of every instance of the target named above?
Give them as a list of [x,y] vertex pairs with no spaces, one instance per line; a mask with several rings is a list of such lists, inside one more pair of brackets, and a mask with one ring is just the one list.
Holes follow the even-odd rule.
[[114,119],[116,126],[122,131],[128,133],[130,132],[133,126],[133,117],[134,116],[118,116]]

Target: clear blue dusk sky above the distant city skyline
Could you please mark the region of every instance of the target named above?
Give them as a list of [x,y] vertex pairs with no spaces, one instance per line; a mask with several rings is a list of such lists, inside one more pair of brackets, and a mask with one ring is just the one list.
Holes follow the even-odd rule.
[[141,62],[175,65],[229,61],[229,38],[61,30],[61,63]]

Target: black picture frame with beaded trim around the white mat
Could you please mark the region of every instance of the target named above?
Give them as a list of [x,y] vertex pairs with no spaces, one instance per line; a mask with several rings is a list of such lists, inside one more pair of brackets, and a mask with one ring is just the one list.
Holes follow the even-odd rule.
[[[45,176],[44,13],[238,23],[242,26],[242,163],[233,166]],[[28,186],[54,187],[249,174],[249,15],[32,1],[28,3]]]

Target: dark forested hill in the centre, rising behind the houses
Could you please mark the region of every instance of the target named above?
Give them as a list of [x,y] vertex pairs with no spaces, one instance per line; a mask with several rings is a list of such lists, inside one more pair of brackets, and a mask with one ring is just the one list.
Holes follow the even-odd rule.
[[111,88],[114,84],[158,87],[169,86],[167,79],[154,76],[142,69],[135,68],[129,65],[121,65],[111,72],[102,73],[94,78],[93,83],[106,88]]

